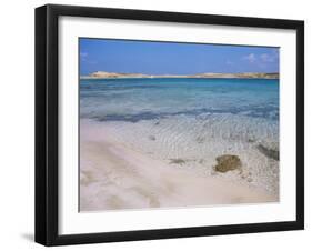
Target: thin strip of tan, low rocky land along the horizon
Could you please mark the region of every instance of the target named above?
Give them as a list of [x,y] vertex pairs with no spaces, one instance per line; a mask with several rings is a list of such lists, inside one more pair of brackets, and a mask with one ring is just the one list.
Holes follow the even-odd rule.
[[115,73],[115,72],[105,72],[97,71],[90,73],[89,76],[80,76],[80,79],[279,79],[280,74],[276,72],[270,73],[260,73],[260,72],[243,72],[243,73],[199,73],[199,74],[189,74],[189,76],[179,76],[179,74],[141,74],[141,73]]

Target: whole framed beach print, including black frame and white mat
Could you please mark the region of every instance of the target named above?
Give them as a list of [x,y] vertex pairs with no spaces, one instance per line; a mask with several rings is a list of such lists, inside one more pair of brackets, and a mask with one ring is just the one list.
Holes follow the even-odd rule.
[[36,241],[304,225],[304,24],[36,9]]

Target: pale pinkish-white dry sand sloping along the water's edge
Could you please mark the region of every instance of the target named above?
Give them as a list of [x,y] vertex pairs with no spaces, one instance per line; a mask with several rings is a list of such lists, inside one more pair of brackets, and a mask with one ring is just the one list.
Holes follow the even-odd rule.
[[81,120],[80,131],[81,211],[275,201],[239,182],[151,159],[117,141],[100,123]]

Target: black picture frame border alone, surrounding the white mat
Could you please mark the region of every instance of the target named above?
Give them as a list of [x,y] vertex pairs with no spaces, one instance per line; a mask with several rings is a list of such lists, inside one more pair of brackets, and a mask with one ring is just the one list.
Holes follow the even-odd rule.
[[[296,220],[142,231],[58,233],[58,20],[61,16],[291,29],[296,31]],[[36,9],[36,242],[44,245],[135,241],[304,229],[304,22],[48,4]]]

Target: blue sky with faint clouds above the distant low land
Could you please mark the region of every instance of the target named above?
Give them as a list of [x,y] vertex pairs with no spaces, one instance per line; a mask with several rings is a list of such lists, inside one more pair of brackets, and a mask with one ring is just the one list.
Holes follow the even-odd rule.
[[276,48],[81,38],[79,49],[81,76],[279,72]]

